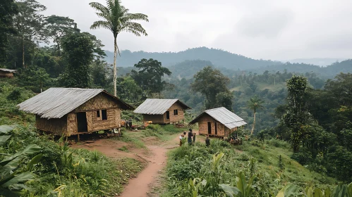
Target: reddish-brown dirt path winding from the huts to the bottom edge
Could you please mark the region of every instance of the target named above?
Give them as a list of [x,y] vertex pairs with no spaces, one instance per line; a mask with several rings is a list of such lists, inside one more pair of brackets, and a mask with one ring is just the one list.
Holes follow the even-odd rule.
[[[198,134],[198,131],[195,131]],[[181,134],[181,133],[180,133]],[[196,136],[196,141],[204,141],[205,137]],[[179,134],[172,136],[169,141],[157,141],[153,137],[145,140],[147,148],[133,148],[130,144],[122,141],[111,141],[109,139],[98,139],[90,144],[75,144],[73,148],[85,148],[89,150],[97,150],[111,158],[135,158],[147,163],[142,172],[137,177],[130,179],[128,184],[124,186],[121,197],[147,197],[157,196],[158,193],[151,193],[153,188],[162,186],[160,176],[166,166],[166,152],[178,147]],[[130,152],[119,151],[119,148],[127,146]]]

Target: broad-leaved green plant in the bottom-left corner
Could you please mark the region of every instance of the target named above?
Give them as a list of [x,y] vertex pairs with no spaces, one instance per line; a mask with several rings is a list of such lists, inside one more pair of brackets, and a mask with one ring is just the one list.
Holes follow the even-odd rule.
[[[0,146],[3,146],[11,138],[8,133],[13,129],[15,129],[13,126],[0,126]],[[35,175],[30,171],[40,161],[42,154],[32,158],[26,167],[20,168],[23,164],[22,161],[28,155],[37,153],[40,150],[39,146],[29,144],[23,151],[13,155],[6,154],[7,157],[0,161],[0,196],[20,196],[20,191],[26,189],[23,183],[35,178]]]

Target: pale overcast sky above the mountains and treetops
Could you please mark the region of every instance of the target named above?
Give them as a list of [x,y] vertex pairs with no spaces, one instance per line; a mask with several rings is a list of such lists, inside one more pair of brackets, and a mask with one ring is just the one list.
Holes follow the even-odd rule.
[[[68,16],[114,51],[109,30],[90,30],[99,20],[92,0],[38,0],[44,15]],[[96,0],[105,4],[104,0]],[[120,49],[184,51],[207,46],[250,58],[351,58],[351,0],[122,0],[131,13],[145,13],[149,34],[121,33]]]

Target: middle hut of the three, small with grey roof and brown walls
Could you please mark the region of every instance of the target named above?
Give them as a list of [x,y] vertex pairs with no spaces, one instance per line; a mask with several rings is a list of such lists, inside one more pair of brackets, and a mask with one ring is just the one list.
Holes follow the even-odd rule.
[[179,123],[184,120],[184,110],[190,107],[178,99],[156,99],[149,98],[145,100],[134,113],[143,115],[144,121],[152,121],[157,124]]

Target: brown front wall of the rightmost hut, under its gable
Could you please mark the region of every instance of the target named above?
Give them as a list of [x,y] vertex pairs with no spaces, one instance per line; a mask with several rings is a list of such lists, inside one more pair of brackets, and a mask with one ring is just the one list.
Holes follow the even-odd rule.
[[[222,125],[220,122],[212,118],[210,115],[202,115],[198,119],[199,134],[208,134],[208,122],[211,124],[211,135],[214,136],[228,136],[230,129]],[[215,134],[215,122],[217,122],[217,134]]]

